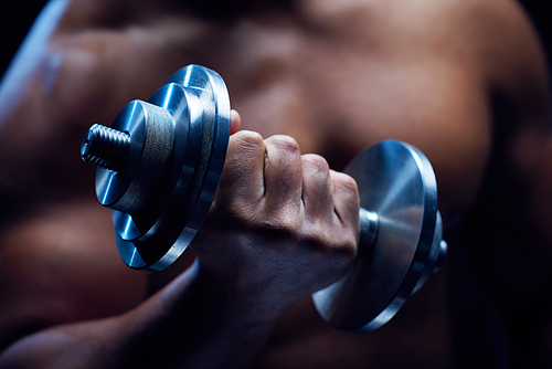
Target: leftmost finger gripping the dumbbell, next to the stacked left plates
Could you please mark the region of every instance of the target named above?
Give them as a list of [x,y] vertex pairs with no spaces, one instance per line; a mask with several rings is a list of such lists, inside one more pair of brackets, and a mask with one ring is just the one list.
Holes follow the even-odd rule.
[[259,134],[240,130],[230,136],[217,200],[259,201],[264,197],[264,161],[265,144]]

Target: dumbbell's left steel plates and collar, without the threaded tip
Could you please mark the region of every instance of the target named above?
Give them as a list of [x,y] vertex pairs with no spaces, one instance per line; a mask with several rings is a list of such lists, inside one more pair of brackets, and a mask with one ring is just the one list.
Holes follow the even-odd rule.
[[215,72],[189,65],[148,102],[128,104],[112,128],[129,135],[128,154],[118,170],[98,168],[98,200],[113,210],[123,261],[163,270],[192,241],[219,184],[230,136],[226,86]]

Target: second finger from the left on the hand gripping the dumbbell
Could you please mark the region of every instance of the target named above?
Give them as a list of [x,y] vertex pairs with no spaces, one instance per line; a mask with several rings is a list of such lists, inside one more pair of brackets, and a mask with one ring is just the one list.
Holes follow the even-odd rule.
[[300,205],[301,157],[297,141],[283,135],[265,140],[265,203],[269,209]]

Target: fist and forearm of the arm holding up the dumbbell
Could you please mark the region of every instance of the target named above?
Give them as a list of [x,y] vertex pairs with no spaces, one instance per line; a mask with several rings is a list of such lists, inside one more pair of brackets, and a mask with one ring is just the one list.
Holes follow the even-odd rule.
[[192,267],[124,315],[22,338],[0,366],[246,368],[288,307],[344,273],[357,233],[350,177],[289,137],[235,134]]

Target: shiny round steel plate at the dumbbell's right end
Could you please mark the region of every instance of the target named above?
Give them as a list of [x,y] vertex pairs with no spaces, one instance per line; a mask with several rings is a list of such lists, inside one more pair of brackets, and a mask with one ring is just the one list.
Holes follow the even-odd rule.
[[347,275],[312,299],[330,325],[367,331],[389,321],[424,273],[435,268],[429,255],[440,242],[434,242],[440,238],[437,187],[427,158],[396,140],[361,152],[344,171],[359,184],[361,207],[378,214],[378,234]]

